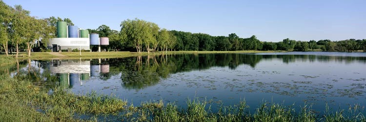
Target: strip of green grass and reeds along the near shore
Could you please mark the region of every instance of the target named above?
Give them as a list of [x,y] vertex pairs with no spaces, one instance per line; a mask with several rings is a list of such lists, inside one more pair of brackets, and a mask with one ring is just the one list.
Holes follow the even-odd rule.
[[[9,121],[156,121],[156,122],[365,122],[360,105],[335,113],[326,106],[324,116],[304,105],[301,111],[292,106],[262,103],[254,113],[249,112],[245,101],[238,105],[222,106],[212,112],[208,102],[187,100],[185,108],[174,103],[142,102],[139,106],[127,105],[115,97],[75,95],[55,88],[48,92],[30,81],[0,75],[0,119]],[[88,117],[81,117],[82,115]]]

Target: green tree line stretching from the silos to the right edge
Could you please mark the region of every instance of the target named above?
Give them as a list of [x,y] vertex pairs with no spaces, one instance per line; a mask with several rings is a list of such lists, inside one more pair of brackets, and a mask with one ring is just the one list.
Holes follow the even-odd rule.
[[260,41],[255,35],[240,38],[235,33],[228,36],[211,36],[203,33],[190,33],[177,30],[160,29],[153,22],[145,20],[123,20],[121,31],[111,30],[106,25],[89,29],[110,38],[106,48],[114,51],[136,51],[141,53],[155,51],[238,51],[238,50],[285,50],[356,52],[366,51],[366,40],[349,39],[344,41],[295,41],[284,39],[280,42]]

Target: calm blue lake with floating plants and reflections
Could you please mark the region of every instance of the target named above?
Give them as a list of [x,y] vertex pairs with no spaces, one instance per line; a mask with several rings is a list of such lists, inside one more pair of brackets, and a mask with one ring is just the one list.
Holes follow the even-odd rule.
[[[366,53],[289,52],[179,54],[116,59],[20,61],[11,75],[52,91],[95,91],[133,103],[186,106],[187,99],[218,106],[244,101],[253,112],[264,102],[333,110],[366,105]],[[208,106],[208,105],[207,105]]]

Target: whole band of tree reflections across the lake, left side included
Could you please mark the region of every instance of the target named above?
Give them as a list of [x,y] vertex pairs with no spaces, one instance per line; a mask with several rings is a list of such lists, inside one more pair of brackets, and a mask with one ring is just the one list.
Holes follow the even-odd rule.
[[[206,70],[211,67],[228,67],[235,70],[240,65],[255,68],[262,60],[282,60],[284,63],[296,61],[345,62],[358,61],[366,63],[366,57],[337,57],[325,55],[252,55],[252,54],[182,54],[159,55],[117,59],[90,60],[90,76],[104,81],[112,76],[121,75],[122,87],[128,89],[142,89],[155,85],[170,74],[188,72],[192,70]],[[88,60],[89,61],[89,60]],[[78,60],[75,61],[76,63]],[[17,65],[0,68],[1,73],[12,74],[20,79],[29,79],[46,88],[56,86],[72,87],[69,74],[52,74],[49,66],[52,61],[18,61]],[[94,67],[99,71],[95,74]],[[79,74],[79,79],[89,79]],[[57,83],[55,83],[57,82]],[[75,84],[75,83],[74,83]]]

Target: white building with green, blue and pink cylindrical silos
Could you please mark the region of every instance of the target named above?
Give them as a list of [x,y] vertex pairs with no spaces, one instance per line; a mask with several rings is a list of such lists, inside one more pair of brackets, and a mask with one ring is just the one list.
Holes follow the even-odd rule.
[[99,34],[89,34],[88,30],[82,30],[78,26],[67,25],[65,21],[57,22],[57,38],[50,39],[47,45],[52,52],[73,49],[90,50],[90,45],[109,45],[107,37],[99,38]]

